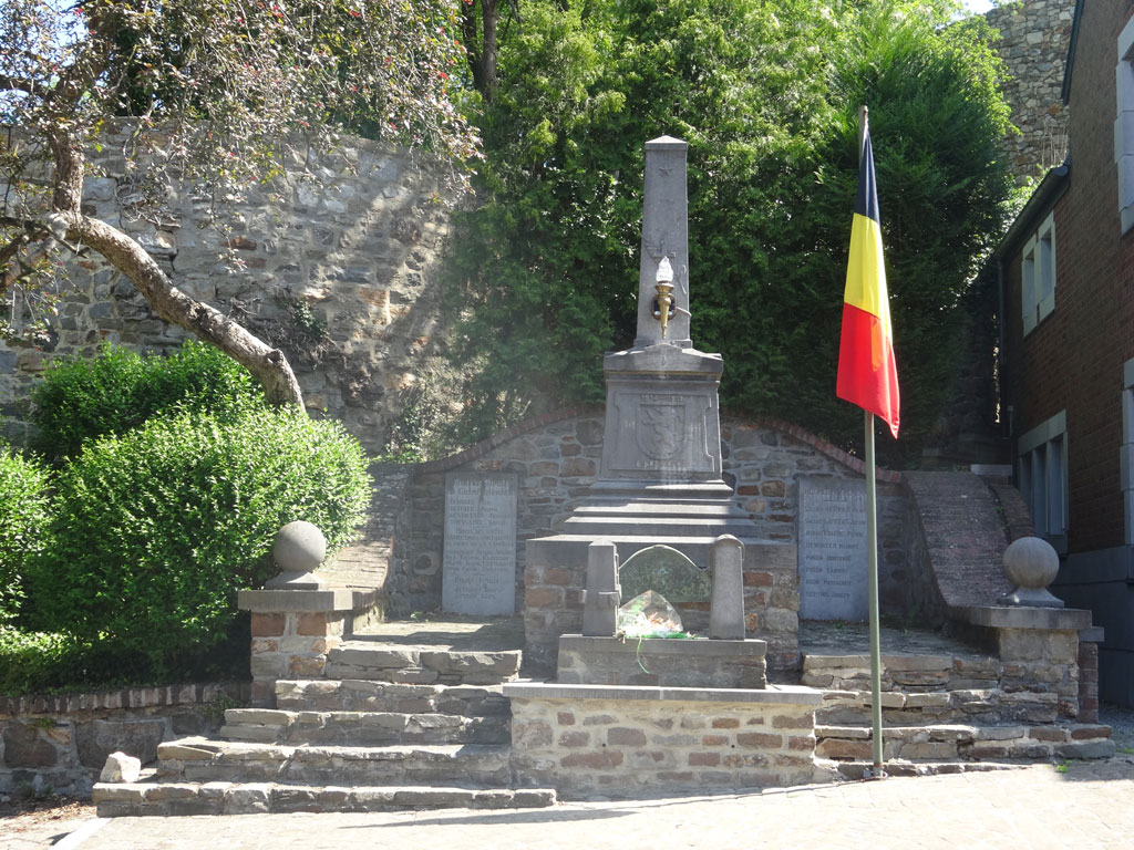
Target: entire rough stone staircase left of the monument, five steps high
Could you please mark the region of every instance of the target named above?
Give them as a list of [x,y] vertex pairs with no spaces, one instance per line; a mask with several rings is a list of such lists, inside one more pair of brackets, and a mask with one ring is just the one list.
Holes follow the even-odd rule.
[[324,679],[278,681],[274,708],[232,708],[217,738],[160,745],[144,781],[95,785],[99,815],[552,805],[553,790],[516,788],[509,766],[501,686],[519,651],[381,628],[331,649]]

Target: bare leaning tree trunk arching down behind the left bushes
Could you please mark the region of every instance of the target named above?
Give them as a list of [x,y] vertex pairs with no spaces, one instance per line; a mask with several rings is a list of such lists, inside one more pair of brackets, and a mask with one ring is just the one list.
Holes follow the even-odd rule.
[[167,322],[215,346],[248,369],[263,385],[270,403],[295,405],[302,410],[303,392],[284,352],[217,308],[189,298],[174,286],[145,248],[121,230],[84,215],[79,207],[83,151],[64,133],[52,136],[51,147],[56,160],[53,218],[56,223],[66,227],[67,240],[102,255],[129,278],[153,311]]

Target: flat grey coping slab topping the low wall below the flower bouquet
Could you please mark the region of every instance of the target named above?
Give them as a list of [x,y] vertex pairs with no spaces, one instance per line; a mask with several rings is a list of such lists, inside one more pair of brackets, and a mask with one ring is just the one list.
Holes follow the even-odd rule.
[[510,699],[626,699],[671,703],[764,703],[768,705],[822,705],[823,691],[799,685],[747,688],[655,688],[621,685],[559,685],[557,682],[505,682]]

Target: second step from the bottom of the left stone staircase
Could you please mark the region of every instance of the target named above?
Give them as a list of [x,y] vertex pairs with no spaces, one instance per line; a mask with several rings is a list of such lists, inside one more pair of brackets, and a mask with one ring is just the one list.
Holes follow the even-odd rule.
[[509,750],[480,743],[348,747],[183,738],[158,747],[156,775],[186,782],[507,787]]

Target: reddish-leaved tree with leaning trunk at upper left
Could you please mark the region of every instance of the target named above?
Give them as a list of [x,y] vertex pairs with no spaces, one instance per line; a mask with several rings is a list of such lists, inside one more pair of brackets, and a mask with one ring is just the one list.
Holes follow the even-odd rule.
[[[476,137],[450,96],[464,59],[455,3],[57,6],[0,7],[0,301],[17,284],[29,303],[46,298],[62,254],[94,252],[162,318],[247,367],[273,403],[301,403],[282,352],[179,291],[135,239],[83,211],[87,153],[108,121],[129,121],[121,152],[135,189],[129,212],[145,216],[160,216],[175,182],[219,202],[239,196],[249,182],[278,177],[285,162],[332,146],[344,128],[459,164],[476,154]],[[41,317],[50,306],[39,303]]]

